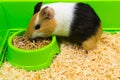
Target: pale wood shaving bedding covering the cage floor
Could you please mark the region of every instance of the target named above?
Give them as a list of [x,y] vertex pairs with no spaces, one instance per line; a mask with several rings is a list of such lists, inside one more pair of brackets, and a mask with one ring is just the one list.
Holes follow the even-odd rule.
[[5,62],[0,80],[120,80],[120,33],[103,33],[97,49],[88,54],[66,41],[60,46],[49,68],[27,72]]

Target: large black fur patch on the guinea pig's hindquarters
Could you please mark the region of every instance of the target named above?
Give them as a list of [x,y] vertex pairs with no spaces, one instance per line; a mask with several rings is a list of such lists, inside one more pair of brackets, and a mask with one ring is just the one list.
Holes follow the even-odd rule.
[[85,3],[77,3],[71,24],[70,39],[82,43],[97,32],[100,19],[95,11]]

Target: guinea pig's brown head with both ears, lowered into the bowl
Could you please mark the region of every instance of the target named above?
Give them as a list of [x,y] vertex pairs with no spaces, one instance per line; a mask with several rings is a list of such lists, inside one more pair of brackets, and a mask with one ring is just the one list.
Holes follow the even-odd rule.
[[53,8],[49,6],[42,7],[42,2],[39,2],[34,7],[34,14],[30,20],[25,37],[49,37],[55,30],[56,21]]

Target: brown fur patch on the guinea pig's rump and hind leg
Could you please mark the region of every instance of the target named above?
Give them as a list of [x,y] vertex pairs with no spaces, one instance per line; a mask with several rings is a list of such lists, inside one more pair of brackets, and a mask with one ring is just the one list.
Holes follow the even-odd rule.
[[101,34],[102,27],[100,26],[94,36],[90,37],[88,40],[82,43],[82,47],[87,51],[95,49],[97,47],[97,42],[99,41]]

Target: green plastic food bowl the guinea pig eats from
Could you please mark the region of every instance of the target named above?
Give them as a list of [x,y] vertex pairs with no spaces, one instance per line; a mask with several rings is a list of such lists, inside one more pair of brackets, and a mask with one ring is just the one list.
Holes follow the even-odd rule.
[[42,48],[35,50],[23,50],[15,47],[12,40],[15,36],[22,35],[25,30],[18,31],[8,39],[7,61],[13,66],[26,70],[40,70],[50,66],[54,56],[60,52],[55,36],[51,42]]

